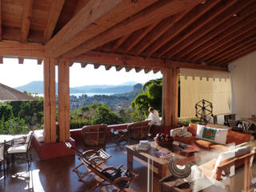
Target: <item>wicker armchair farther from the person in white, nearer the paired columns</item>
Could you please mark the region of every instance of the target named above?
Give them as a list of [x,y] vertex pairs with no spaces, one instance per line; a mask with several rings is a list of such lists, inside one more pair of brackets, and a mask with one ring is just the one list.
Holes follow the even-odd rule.
[[83,126],[82,135],[86,146],[104,145],[107,125]]

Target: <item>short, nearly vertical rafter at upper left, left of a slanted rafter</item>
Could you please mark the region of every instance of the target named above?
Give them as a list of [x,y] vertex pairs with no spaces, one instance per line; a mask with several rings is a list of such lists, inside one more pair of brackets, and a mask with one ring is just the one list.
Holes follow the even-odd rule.
[[24,1],[23,11],[22,11],[21,42],[27,42],[27,38],[29,36],[33,3],[34,3],[34,0]]

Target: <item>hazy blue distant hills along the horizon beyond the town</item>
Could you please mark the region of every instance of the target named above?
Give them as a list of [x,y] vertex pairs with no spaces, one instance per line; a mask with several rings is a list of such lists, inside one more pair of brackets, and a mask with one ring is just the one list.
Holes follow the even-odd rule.
[[[70,87],[70,94],[76,93],[113,93],[123,94],[133,91],[134,85],[137,82],[124,82],[120,85],[95,85],[95,86],[76,86]],[[15,89],[21,91],[28,91],[30,93],[43,94],[43,82],[30,82],[24,86],[18,86]],[[58,90],[58,83],[56,83],[56,90]],[[57,92],[57,91],[56,91]]]

